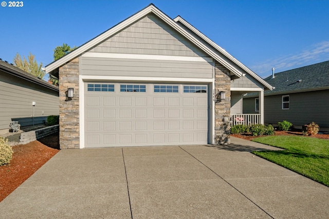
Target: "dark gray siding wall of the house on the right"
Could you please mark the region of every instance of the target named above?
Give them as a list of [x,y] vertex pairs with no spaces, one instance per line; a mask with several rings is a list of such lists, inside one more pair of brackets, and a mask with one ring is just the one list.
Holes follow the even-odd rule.
[[[290,109],[282,109],[282,95],[289,95]],[[282,95],[264,97],[265,123],[277,124],[278,122],[287,120],[296,126],[315,122],[320,128],[329,127],[329,90],[287,93]],[[254,98],[243,99],[244,113],[251,112],[252,103],[254,105]]]

